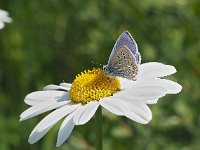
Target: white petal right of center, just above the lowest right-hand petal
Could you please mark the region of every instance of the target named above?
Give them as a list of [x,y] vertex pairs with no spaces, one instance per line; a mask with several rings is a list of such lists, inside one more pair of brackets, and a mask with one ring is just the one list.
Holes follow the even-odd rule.
[[120,91],[113,95],[115,98],[146,101],[165,96],[166,90],[162,87],[136,85],[135,87]]

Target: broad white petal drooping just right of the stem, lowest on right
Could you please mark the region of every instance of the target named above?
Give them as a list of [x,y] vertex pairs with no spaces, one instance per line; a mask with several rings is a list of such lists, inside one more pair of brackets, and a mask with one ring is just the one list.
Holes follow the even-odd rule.
[[109,97],[100,100],[99,103],[108,111],[116,115],[124,115],[138,123],[146,124],[152,118],[151,110],[143,102],[130,103],[128,101]]

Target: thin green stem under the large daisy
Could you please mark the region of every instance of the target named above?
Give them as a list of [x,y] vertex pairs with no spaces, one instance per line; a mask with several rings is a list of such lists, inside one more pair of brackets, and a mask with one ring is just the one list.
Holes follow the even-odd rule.
[[96,111],[95,124],[96,124],[96,150],[102,150],[102,110],[101,110],[101,106],[99,106],[99,108]]

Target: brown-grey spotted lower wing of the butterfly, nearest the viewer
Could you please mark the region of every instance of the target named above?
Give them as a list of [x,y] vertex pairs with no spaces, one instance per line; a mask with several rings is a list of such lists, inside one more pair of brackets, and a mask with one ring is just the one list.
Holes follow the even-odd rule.
[[107,67],[111,75],[135,80],[138,65],[131,50],[123,45],[110,56]]

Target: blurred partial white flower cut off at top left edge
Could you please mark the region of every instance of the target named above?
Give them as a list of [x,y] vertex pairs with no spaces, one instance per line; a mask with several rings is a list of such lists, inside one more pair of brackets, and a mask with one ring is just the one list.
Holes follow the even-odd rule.
[[9,17],[9,13],[0,9],[0,30],[4,28],[5,23],[11,23],[12,19]]

